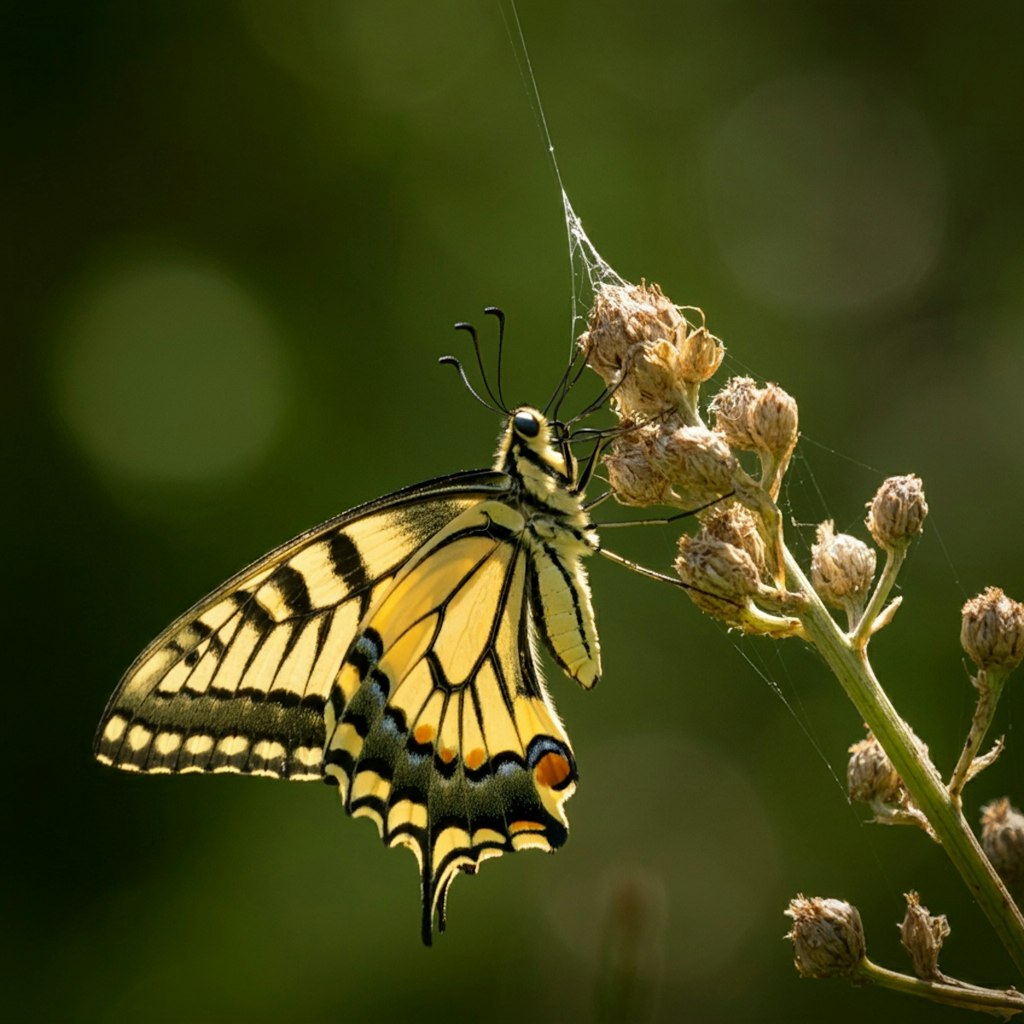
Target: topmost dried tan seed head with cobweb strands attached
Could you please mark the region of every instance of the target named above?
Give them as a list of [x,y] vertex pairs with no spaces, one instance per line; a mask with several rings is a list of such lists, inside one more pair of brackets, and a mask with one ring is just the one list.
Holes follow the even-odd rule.
[[617,385],[620,412],[648,417],[689,410],[686,386],[710,377],[725,351],[705,328],[691,330],[657,285],[644,282],[598,290],[580,347],[591,369]]

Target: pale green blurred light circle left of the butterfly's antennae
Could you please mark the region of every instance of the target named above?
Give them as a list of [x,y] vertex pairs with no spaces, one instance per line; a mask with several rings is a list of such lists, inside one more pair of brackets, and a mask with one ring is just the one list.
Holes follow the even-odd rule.
[[217,267],[135,260],[90,274],[54,347],[57,412],[103,469],[190,482],[252,466],[288,397],[259,303]]

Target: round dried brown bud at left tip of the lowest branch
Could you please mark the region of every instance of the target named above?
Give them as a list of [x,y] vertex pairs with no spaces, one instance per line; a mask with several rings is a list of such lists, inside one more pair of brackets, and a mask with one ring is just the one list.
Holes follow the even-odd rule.
[[804,978],[853,977],[866,953],[857,908],[844,900],[798,896],[785,911],[794,964]]

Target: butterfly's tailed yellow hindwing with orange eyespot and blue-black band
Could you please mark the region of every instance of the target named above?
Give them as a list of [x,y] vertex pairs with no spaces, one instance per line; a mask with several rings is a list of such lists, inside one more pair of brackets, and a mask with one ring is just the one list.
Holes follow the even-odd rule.
[[564,843],[568,738],[536,668],[522,516],[467,509],[375,601],[327,709],[346,809],[420,863],[423,937],[458,870]]

